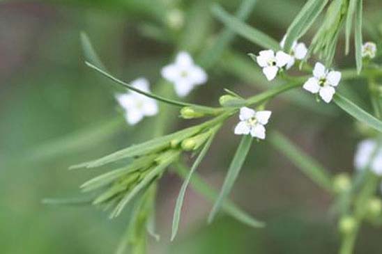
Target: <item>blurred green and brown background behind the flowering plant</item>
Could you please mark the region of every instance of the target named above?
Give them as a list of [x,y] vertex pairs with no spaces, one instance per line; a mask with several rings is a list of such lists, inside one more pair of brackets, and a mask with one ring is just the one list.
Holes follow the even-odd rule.
[[[171,95],[171,86],[155,87],[160,68],[178,49],[196,56],[222,31],[210,12],[213,2],[230,13],[240,5],[240,0],[0,1],[0,253],[114,253],[128,216],[110,221],[95,207],[49,206],[41,200],[78,197],[78,186],[101,172],[69,171],[68,166],[145,141],[157,129],[171,132],[192,122],[169,111],[160,126],[152,118],[135,127],[126,125],[110,82],[84,65],[79,34],[89,35],[118,77],[147,77],[153,90],[170,90]],[[304,2],[259,0],[247,23],[280,40]],[[366,38],[381,36],[381,9],[381,1],[365,3]],[[337,63],[352,67],[353,56],[343,56],[342,46]],[[186,100],[216,105],[223,88],[247,96],[268,86],[246,56],[258,50],[236,37],[208,69],[208,84]],[[368,109],[364,85],[342,86]],[[268,128],[286,134],[333,174],[351,172],[355,145],[362,138],[353,120],[334,106],[316,104],[313,97],[293,101],[303,96],[300,91],[272,102]],[[217,136],[199,168],[215,189],[238,145],[238,136],[232,134],[235,121]],[[253,145],[231,195],[240,207],[266,221],[266,228],[248,228],[224,215],[207,225],[211,203],[189,189],[180,233],[170,243],[180,186],[173,173],[160,182],[156,219],[162,239],[150,241],[150,253],[336,253],[339,236],[335,217],[328,212],[330,197],[267,142]],[[362,228],[356,253],[381,253],[381,237],[382,230]]]

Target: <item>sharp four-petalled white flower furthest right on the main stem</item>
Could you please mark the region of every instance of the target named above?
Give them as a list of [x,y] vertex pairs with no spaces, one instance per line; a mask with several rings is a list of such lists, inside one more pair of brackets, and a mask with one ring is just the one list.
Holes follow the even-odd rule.
[[319,93],[322,100],[329,103],[335,94],[335,87],[341,80],[341,72],[326,70],[322,63],[316,63],[313,77],[308,79],[303,88],[310,93]]

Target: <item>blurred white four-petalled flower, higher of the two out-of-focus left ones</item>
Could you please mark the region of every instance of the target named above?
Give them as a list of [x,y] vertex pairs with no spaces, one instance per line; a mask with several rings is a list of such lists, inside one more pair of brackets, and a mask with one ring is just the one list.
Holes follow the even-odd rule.
[[202,68],[194,64],[190,54],[181,51],[171,63],[162,68],[162,77],[174,84],[176,94],[185,97],[194,86],[206,83],[207,74]]

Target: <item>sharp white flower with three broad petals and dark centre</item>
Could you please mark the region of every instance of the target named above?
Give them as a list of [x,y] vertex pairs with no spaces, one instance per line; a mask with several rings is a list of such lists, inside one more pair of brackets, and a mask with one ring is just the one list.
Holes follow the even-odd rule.
[[271,81],[275,79],[277,72],[291,61],[291,56],[283,51],[277,51],[275,55],[275,51],[268,49],[260,51],[256,61],[263,68],[263,74],[268,81]]

